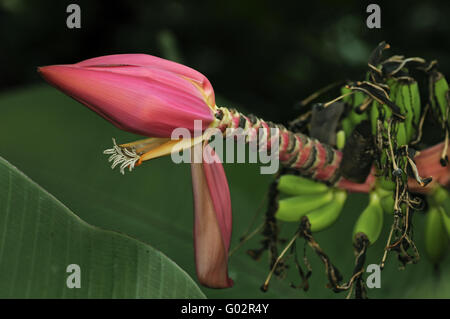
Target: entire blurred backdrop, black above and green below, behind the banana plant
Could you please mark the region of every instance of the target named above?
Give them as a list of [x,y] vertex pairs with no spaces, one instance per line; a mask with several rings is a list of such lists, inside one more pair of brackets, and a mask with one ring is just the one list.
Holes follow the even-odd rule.
[[[389,54],[438,59],[450,74],[449,2],[391,1],[381,5],[382,28],[365,26],[369,2],[352,1],[75,1],[82,28],[66,27],[66,7],[74,1],[0,0],[0,155],[18,166],[86,222],[123,232],[161,250],[195,277],[192,245],[190,172],[169,158],[158,159],[123,177],[101,154],[136,137],[121,132],[94,113],[42,83],[36,67],[74,63],[94,56],[140,52],[173,59],[204,73],[218,105],[236,107],[266,120],[287,122],[294,105],[317,89],[342,79],[360,79],[368,54],[380,41]],[[225,100],[223,97],[226,97]],[[245,232],[266,198],[271,176],[257,165],[225,165],[234,210],[233,243]],[[343,216],[317,239],[346,278],[353,268],[351,233],[365,204],[350,197]],[[386,218],[384,232],[390,222]],[[416,236],[423,250],[423,216]],[[284,228],[287,237],[295,225]],[[230,260],[235,287],[202,288],[208,297],[338,297],[325,288],[324,270],[314,269],[308,293],[289,288],[290,278],[259,287],[268,261],[245,254],[253,239]],[[384,243],[370,249],[378,263]],[[266,257],[266,256],[265,256]],[[441,269],[448,269],[447,258]],[[425,260],[397,270],[393,257],[382,272],[382,289],[370,297],[449,297],[450,274],[433,272]],[[291,278],[292,277],[292,278]]]

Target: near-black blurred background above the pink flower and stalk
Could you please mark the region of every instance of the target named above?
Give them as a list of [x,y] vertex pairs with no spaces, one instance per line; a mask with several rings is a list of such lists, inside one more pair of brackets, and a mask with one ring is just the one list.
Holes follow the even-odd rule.
[[[70,3],[81,29],[66,27]],[[227,106],[286,122],[311,92],[360,79],[382,40],[450,73],[448,1],[378,2],[381,29],[366,27],[368,3],[0,0],[0,90],[42,83],[40,65],[141,52],[204,73]]]

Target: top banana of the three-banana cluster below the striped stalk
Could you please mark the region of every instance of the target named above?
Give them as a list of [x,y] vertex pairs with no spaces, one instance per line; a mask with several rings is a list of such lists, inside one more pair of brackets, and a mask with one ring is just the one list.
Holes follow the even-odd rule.
[[296,175],[282,175],[278,181],[278,191],[286,195],[311,195],[328,190],[324,183]]

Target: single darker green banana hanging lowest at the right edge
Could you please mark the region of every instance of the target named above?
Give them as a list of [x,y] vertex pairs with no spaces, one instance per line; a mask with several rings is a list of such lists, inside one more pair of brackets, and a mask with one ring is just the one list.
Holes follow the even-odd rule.
[[439,263],[447,252],[448,234],[442,208],[431,206],[425,219],[425,251],[433,264]]

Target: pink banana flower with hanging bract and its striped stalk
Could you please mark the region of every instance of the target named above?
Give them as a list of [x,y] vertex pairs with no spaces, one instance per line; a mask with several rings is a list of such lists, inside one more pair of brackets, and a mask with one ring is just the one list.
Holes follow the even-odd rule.
[[[244,134],[262,128],[268,150],[273,139],[279,138],[281,164],[311,179],[357,192],[369,192],[374,186],[373,174],[363,184],[343,178],[339,170],[342,153],[329,145],[282,125],[216,106],[208,79],[184,65],[144,54],[121,54],[38,70],[50,84],[120,129],[150,137],[114,144],[105,151],[111,155],[112,167],[120,165],[122,173],[125,168],[131,170],[144,161],[171,154],[174,145],[180,143],[171,140],[172,131],[181,127],[193,132],[194,120],[201,120],[203,131],[218,128],[224,134],[227,128],[242,128]],[[276,137],[270,135],[271,128],[278,129]],[[200,143],[207,147],[205,139],[182,140],[182,149]],[[439,175],[437,182],[447,185],[448,168],[438,169],[434,163],[439,163],[435,155],[441,149],[437,146],[422,152],[416,162],[420,172],[425,173],[428,167],[430,174]],[[197,276],[205,286],[225,288],[232,285],[227,270],[231,201],[222,164],[209,163],[191,165]]]

